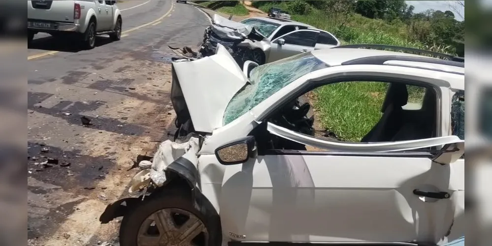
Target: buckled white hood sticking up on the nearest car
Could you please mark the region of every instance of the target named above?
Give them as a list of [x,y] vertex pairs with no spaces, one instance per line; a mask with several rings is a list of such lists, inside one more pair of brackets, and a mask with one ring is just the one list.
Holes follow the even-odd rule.
[[171,100],[177,121],[185,122],[190,118],[197,132],[211,133],[221,127],[230,99],[248,83],[241,68],[221,44],[217,45],[213,56],[172,62],[172,71]]

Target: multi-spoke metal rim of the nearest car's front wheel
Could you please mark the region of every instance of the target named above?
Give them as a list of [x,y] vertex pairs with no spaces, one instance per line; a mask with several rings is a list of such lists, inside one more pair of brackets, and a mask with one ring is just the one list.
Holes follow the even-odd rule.
[[140,225],[138,246],[206,246],[208,231],[192,213],[162,209],[147,217]]

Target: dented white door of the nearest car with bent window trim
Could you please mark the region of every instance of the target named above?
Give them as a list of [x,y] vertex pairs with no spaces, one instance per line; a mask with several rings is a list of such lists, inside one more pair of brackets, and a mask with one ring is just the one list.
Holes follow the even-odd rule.
[[[327,151],[259,146],[257,158],[227,166],[220,213],[234,240],[436,244],[464,213],[458,137],[354,144],[266,129]],[[444,147],[417,151],[432,146]]]

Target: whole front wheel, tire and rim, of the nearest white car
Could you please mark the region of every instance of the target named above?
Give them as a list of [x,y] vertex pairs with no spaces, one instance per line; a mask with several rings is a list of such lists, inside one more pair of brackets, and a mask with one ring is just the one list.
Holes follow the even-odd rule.
[[166,195],[144,201],[123,217],[120,245],[215,246],[220,242],[212,242],[216,237],[211,235],[217,230],[210,227],[190,198]]

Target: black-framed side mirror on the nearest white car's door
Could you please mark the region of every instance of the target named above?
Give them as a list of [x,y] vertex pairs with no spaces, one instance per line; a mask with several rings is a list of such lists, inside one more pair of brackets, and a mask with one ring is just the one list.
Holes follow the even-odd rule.
[[241,164],[256,155],[256,141],[253,136],[238,139],[215,150],[215,156],[223,165]]

